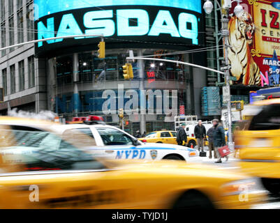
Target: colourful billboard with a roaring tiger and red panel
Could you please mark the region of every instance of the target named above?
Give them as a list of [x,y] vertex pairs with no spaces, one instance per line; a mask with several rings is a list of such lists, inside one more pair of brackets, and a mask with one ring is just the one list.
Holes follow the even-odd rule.
[[[280,1],[243,0],[242,16],[230,17],[228,59],[233,84],[275,86],[280,75]],[[235,8],[236,3],[233,3]]]

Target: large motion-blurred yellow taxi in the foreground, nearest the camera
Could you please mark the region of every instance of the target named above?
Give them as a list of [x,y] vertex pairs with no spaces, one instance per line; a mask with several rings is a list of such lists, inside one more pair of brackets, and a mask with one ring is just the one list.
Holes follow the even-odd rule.
[[87,135],[69,143],[31,119],[1,116],[0,128],[0,208],[250,208],[265,199],[257,178],[235,170],[103,160],[79,147]]

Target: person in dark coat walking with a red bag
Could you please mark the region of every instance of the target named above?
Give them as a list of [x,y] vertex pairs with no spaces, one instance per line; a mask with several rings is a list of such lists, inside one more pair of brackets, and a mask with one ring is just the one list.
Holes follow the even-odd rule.
[[[216,151],[216,155],[218,156],[218,160],[216,162],[221,162],[221,155],[218,151],[219,148],[222,146],[226,146],[226,137],[225,137],[225,130],[223,130],[223,126],[219,125],[219,120],[213,120],[214,125],[214,147]],[[226,155],[226,160],[228,160],[228,156]]]

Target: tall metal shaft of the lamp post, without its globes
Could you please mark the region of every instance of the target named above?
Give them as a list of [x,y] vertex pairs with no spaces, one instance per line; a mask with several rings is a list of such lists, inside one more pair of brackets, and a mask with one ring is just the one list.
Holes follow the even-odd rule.
[[[221,18],[221,24],[222,24],[222,36],[223,36],[223,50],[224,50],[224,58],[226,62],[226,66],[228,66],[228,8],[222,9],[222,18]],[[228,88],[230,92],[230,70],[227,69],[225,72],[226,77],[226,87]],[[228,100],[228,148],[230,148],[230,151],[234,150],[234,144],[233,144],[233,134],[232,134],[232,120],[231,120],[231,102]]]

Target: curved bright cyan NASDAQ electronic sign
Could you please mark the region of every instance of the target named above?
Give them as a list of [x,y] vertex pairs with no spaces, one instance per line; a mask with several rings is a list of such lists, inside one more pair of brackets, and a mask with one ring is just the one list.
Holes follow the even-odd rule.
[[[201,45],[202,7],[196,0],[34,0],[36,39],[103,35],[110,43]],[[36,54],[91,45],[100,38],[48,40]],[[97,47],[97,46],[96,46]]]

